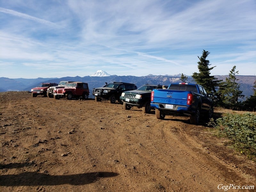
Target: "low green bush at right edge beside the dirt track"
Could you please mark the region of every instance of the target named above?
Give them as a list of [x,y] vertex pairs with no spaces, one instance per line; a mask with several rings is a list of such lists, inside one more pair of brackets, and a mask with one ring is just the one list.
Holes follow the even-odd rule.
[[256,115],[252,113],[226,114],[216,120],[219,135],[231,140],[239,152],[256,157]]

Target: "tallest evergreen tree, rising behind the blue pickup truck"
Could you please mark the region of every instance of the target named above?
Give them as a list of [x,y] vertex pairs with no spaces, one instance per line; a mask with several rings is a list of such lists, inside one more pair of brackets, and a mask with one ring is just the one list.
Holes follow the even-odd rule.
[[[210,61],[206,60],[206,57],[210,54],[210,52],[203,50],[203,54],[199,59],[199,62],[197,62],[197,67],[199,69],[199,73],[193,73],[192,77],[193,79],[196,81],[197,84],[200,84],[204,87],[204,89],[207,92],[214,92],[216,93],[216,87],[219,86],[219,83],[222,80],[217,80],[217,78],[215,78],[214,76],[211,76],[210,71],[215,68],[214,67],[209,67]],[[218,97],[218,95],[216,94],[216,96]]]

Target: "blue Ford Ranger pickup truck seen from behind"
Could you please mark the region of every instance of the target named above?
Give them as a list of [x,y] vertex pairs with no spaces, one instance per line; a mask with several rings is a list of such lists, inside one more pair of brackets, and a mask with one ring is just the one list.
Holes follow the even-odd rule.
[[157,119],[182,114],[190,116],[191,124],[198,124],[201,115],[213,116],[213,101],[199,84],[172,83],[168,89],[154,89],[150,106],[156,109]]

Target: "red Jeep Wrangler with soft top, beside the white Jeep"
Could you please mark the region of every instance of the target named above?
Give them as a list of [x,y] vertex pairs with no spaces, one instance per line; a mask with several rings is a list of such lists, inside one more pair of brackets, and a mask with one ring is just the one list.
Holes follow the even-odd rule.
[[68,100],[79,97],[82,97],[83,99],[88,99],[89,93],[90,92],[87,83],[73,82],[67,83],[64,88],[56,89],[53,97],[55,99],[66,97]]

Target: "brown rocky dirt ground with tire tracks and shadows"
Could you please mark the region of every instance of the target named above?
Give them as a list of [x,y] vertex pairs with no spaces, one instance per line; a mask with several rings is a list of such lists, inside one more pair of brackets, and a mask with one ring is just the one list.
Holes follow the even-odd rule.
[[255,163],[205,122],[29,92],[2,92],[0,103],[0,191],[224,191],[256,183]]

